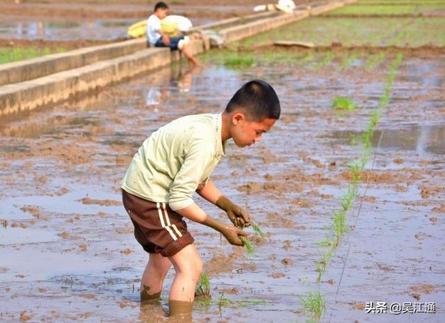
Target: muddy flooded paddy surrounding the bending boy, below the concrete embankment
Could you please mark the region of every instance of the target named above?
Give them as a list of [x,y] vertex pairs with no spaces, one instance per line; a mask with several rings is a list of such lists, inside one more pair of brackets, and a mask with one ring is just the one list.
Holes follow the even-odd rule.
[[[432,63],[437,68],[426,74],[442,79],[444,62],[409,58],[399,69],[394,100],[377,128],[376,136],[384,135],[380,145],[374,142],[366,196],[350,213],[351,230],[322,279],[328,301],[323,322],[444,320],[444,83],[412,75]],[[29,322],[163,322],[173,272],[161,305],[140,306],[138,279],[147,259],[120,206],[120,179],[139,144],[159,126],[181,115],[216,113],[244,81],[264,78],[282,99],[282,118],[254,147],[231,142],[213,180],[250,210],[268,238],[252,237],[257,252],[248,260],[218,233],[189,226],[213,299],[266,304],[198,302],[193,322],[305,322],[298,295],[317,288],[314,267],[323,248],[314,243],[329,233],[330,210],[348,183],[346,165],[359,156],[359,140],[344,134],[365,129],[386,63],[373,70],[334,63],[318,69],[161,69],[1,124],[2,320],[17,322],[22,313]],[[362,108],[339,115],[330,108],[337,95]],[[418,299],[435,301],[437,314],[363,310],[366,301]]]

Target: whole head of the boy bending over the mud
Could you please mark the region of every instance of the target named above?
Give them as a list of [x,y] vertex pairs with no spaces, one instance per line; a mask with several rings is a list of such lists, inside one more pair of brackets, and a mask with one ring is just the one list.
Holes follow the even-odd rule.
[[253,80],[236,91],[224,112],[235,144],[246,147],[261,140],[261,135],[280,118],[280,111],[280,100],[272,86]]

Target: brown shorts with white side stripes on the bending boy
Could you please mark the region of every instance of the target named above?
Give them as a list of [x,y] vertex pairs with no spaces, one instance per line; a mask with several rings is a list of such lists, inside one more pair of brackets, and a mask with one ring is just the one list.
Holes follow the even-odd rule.
[[170,257],[194,240],[182,216],[165,203],[141,199],[122,190],[124,208],[134,225],[134,236],[149,254]]

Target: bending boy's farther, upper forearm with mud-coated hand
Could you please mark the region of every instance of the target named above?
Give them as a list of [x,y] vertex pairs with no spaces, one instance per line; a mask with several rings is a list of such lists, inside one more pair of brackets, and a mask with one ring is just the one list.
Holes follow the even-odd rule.
[[242,229],[252,224],[252,218],[249,213],[227,199],[210,179],[203,188],[196,192],[211,204],[215,204],[218,208],[225,210],[227,217],[229,217],[235,226]]

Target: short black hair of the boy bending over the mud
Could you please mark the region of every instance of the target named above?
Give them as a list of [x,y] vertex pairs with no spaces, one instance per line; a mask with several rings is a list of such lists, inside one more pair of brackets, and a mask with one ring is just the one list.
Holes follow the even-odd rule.
[[252,80],[245,83],[230,99],[225,112],[231,113],[239,108],[253,121],[261,122],[266,118],[280,119],[280,100],[269,83]]

